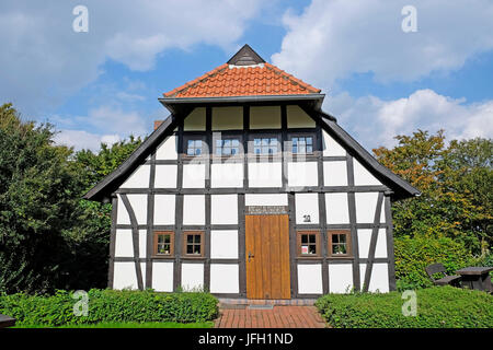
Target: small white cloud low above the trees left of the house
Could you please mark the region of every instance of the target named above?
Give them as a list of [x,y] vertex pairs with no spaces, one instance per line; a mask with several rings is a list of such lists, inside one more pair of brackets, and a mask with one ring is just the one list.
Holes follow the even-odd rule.
[[61,130],[54,139],[56,144],[73,147],[76,151],[87,149],[93,152],[99,151],[101,143],[112,145],[119,140],[117,135],[96,135],[83,130]]

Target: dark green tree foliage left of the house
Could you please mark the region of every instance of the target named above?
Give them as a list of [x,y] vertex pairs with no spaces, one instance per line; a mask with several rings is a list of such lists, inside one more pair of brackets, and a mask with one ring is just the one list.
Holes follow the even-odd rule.
[[140,139],[74,154],[54,135],[0,106],[0,291],[106,285],[111,206],[81,197]]

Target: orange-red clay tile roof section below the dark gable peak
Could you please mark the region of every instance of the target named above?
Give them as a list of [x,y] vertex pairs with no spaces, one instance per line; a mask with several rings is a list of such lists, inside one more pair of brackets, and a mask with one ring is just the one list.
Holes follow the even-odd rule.
[[271,63],[232,68],[225,63],[163,95],[179,98],[317,93],[320,93],[320,89],[302,82]]

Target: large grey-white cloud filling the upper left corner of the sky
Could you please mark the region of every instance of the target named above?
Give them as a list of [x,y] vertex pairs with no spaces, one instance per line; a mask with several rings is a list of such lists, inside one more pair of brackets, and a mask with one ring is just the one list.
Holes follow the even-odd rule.
[[89,32],[74,33],[78,4],[1,1],[0,101],[38,114],[94,81],[108,58],[145,71],[168,48],[200,43],[231,49],[262,1],[85,0]]

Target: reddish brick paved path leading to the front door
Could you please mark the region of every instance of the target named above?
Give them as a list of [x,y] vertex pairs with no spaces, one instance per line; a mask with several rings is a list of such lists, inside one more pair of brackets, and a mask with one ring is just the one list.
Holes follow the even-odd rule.
[[324,328],[314,306],[274,306],[272,310],[221,308],[216,328]]

